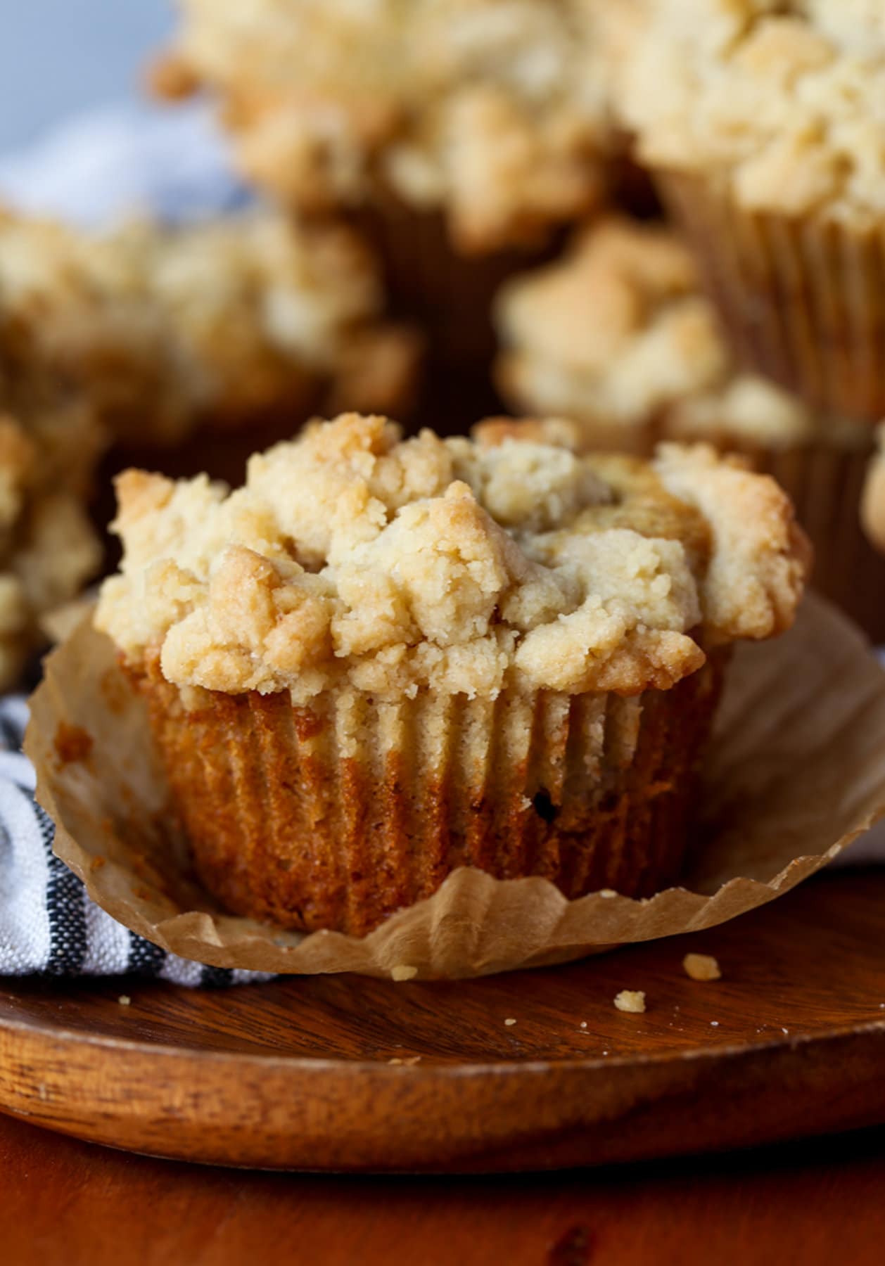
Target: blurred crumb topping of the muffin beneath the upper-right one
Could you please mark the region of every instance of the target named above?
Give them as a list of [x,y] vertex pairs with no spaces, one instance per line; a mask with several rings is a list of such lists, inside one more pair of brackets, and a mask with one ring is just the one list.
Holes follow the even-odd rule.
[[629,448],[644,443],[648,424],[665,438],[712,443],[851,438],[846,425],[824,425],[794,396],[736,370],[691,256],[670,229],[600,220],[560,260],[509,281],[496,309],[504,396],[517,409],[576,419],[586,444]]

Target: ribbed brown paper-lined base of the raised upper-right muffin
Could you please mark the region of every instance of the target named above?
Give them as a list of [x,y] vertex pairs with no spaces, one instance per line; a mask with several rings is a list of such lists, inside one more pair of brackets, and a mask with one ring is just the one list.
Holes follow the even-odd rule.
[[760,214],[703,176],[658,172],[737,354],[813,408],[885,414],[885,227]]

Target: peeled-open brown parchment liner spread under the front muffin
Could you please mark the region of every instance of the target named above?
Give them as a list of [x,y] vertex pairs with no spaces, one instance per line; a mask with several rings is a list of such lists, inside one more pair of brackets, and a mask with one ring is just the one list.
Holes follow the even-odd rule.
[[885,672],[844,617],[807,596],[790,633],[734,656],[682,887],[567,901],[543,879],[462,868],[362,939],[219,912],[166,812],[143,701],[87,620],[47,661],[25,751],[58,856],[99,905],[165,950],[271,972],[480,976],[709,928],[819,870],[885,812]]

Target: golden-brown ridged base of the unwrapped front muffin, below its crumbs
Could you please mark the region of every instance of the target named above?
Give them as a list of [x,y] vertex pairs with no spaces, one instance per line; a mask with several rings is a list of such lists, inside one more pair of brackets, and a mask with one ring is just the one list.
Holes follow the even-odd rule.
[[[186,711],[156,657],[133,680],[209,891],[238,914],[360,936],[460,866],[541,875],[568,898],[671,882],[725,658],[633,698],[423,693],[386,711],[254,691]],[[342,756],[355,725],[360,755]]]

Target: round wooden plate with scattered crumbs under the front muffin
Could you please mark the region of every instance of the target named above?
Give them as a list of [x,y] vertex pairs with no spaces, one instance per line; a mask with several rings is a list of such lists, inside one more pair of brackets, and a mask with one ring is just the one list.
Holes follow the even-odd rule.
[[[723,979],[689,980],[689,950]],[[615,1010],[622,989],[644,1014]],[[756,1144],[885,1122],[884,1061],[877,871],[491,980],[0,989],[3,1110],[223,1165],[539,1170]]]

